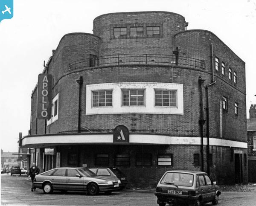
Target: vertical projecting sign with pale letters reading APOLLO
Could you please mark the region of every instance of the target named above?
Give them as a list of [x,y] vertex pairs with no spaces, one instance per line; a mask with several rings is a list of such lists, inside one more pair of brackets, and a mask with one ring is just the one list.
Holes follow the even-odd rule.
[[52,75],[38,75],[37,118],[50,119],[52,116]]

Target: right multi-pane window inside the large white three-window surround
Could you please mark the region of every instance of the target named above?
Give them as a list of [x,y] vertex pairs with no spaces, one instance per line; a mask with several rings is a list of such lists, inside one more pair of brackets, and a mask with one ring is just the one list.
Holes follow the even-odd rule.
[[177,107],[177,91],[155,90],[155,106]]

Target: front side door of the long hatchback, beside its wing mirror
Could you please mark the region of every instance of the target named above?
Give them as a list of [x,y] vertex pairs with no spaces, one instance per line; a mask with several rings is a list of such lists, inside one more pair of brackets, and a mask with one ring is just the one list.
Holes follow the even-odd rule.
[[67,190],[84,190],[84,177],[77,177],[76,169],[67,169]]

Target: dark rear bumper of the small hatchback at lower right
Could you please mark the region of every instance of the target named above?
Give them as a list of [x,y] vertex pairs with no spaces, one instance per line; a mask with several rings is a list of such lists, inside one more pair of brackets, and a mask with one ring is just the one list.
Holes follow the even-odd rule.
[[197,196],[190,196],[190,195],[182,195],[182,194],[167,194],[163,192],[154,192],[154,195],[157,196],[157,203],[158,202],[184,202],[184,203],[194,203],[195,200],[198,199]]

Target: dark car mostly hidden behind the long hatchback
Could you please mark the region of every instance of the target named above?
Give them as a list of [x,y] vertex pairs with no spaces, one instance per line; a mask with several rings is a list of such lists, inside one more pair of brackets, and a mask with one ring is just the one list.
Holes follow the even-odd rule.
[[120,189],[124,189],[127,185],[127,177],[122,171],[120,171],[116,167],[95,167],[95,168],[88,168],[90,171],[93,171],[97,176],[116,176],[121,181]]

